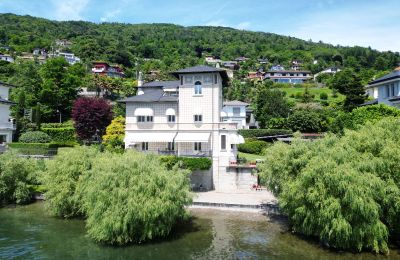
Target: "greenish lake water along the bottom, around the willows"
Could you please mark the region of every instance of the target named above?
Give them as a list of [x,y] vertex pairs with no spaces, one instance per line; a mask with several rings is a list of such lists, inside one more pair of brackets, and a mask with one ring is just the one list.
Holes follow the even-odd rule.
[[0,209],[0,259],[400,259],[334,253],[286,231],[261,214],[192,209],[193,221],[169,239],[109,247],[85,236],[82,220],[46,215],[43,203]]

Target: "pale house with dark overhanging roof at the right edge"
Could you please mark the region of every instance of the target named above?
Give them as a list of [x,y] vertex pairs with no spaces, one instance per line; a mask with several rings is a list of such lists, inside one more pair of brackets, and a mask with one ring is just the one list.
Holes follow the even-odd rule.
[[364,105],[386,104],[400,108],[400,67],[368,83],[366,93],[374,100]]

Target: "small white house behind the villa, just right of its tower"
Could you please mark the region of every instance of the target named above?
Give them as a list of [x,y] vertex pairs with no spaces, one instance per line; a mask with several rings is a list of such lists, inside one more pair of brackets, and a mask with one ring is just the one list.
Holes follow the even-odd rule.
[[221,112],[221,121],[237,123],[238,129],[248,129],[246,108],[249,104],[233,100],[225,101]]

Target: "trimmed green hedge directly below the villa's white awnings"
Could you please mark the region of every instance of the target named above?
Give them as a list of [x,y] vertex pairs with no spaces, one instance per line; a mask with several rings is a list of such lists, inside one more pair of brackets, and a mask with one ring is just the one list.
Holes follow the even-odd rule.
[[210,158],[190,158],[190,157],[178,157],[174,155],[160,156],[160,161],[167,167],[172,169],[175,165],[179,165],[180,168],[194,170],[209,170],[212,162]]

